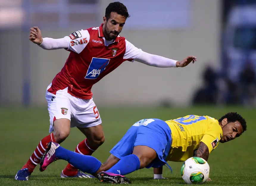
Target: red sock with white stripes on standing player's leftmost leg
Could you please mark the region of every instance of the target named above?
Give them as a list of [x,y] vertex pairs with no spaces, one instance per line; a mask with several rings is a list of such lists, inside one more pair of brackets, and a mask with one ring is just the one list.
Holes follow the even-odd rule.
[[53,133],[44,137],[40,141],[34,153],[29,158],[28,162],[26,162],[26,164],[21,169],[28,168],[29,172],[32,173],[35,167],[40,163],[41,157],[43,156],[46,149],[46,144],[49,143],[50,141],[56,142]]

